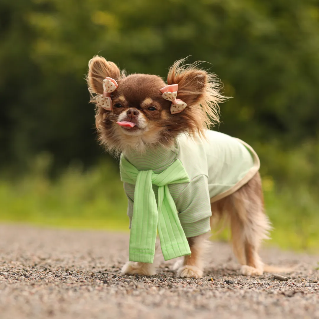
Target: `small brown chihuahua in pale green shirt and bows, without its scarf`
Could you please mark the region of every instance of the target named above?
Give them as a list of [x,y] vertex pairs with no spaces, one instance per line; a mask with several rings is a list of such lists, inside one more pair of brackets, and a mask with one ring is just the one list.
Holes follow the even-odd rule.
[[[96,104],[98,139],[108,152],[122,154],[138,169],[158,174],[176,156],[185,167],[189,162],[185,169],[192,178],[190,182],[169,185],[191,252],[177,265],[178,276],[203,276],[210,227],[224,217],[230,221],[232,246],[242,265],[241,274],[262,275],[264,264],[258,250],[261,242],[269,238],[271,223],[264,213],[259,159],[246,143],[208,130],[219,123],[219,103],[226,99],[220,93],[222,84],[217,76],[200,69],[198,64],[185,65],[182,59],[171,66],[164,83],[156,75],[126,75],[115,63],[94,56],[86,79],[91,102]],[[236,149],[236,156],[225,148],[228,143]],[[214,164],[207,164],[212,159]],[[232,162],[227,162],[230,159]],[[221,173],[224,169],[228,171]],[[215,175],[223,175],[228,181],[211,181]],[[229,181],[230,175],[235,182]],[[124,182],[124,188],[132,219],[134,185]],[[122,273],[127,274],[155,272],[152,263],[139,261],[128,262],[122,268]]]

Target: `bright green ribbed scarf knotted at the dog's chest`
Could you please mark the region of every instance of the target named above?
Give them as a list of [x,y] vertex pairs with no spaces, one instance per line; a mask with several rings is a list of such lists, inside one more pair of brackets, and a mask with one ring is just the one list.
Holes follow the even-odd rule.
[[[129,260],[153,263],[157,229],[165,260],[190,255],[189,244],[168,188],[169,184],[189,182],[181,161],[177,159],[165,171],[155,174],[152,170],[139,171],[121,155],[120,169],[121,180],[135,184]],[[152,184],[159,187],[157,205]]]

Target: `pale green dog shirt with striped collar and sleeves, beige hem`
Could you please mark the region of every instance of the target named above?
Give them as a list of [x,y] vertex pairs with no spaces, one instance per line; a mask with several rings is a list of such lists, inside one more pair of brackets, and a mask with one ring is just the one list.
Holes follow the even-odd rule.
[[[246,184],[258,171],[256,152],[240,139],[206,130],[203,137],[179,136],[171,148],[159,146],[145,152],[123,153],[138,170],[159,174],[179,159],[190,182],[170,184],[178,216],[186,237],[210,231],[211,203],[218,201]],[[127,214],[133,215],[135,185],[124,182],[128,198]],[[157,200],[158,187],[153,185]]]

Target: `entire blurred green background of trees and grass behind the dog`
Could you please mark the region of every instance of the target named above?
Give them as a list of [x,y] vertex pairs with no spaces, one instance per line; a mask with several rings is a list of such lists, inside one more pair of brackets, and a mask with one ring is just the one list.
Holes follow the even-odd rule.
[[319,249],[317,0],[0,0],[1,221],[127,230],[88,103],[95,54],[164,78],[206,61],[232,97],[214,129],[260,156],[270,244]]

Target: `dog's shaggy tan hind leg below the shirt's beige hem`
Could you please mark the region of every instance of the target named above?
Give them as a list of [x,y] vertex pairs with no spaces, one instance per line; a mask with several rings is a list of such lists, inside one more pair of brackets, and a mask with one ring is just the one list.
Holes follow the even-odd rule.
[[243,275],[262,275],[263,263],[258,250],[268,239],[271,225],[263,211],[261,178],[257,173],[247,184],[228,197],[234,253],[242,264]]

